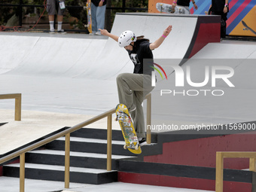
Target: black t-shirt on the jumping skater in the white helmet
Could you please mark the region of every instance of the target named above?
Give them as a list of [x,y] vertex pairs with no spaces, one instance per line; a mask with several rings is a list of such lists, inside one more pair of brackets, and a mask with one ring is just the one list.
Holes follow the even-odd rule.
[[133,50],[127,50],[134,64],[133,73],[151,75],[154,71],[153,53],[149,45],[150,42],[143,39],[135,42]]

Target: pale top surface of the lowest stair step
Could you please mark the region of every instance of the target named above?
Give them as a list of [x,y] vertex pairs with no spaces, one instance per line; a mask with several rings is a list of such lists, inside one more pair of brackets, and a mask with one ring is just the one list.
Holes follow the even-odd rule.
[[[5,165],[8,167],[20,167],[20,163],[14,163],[10,165]],[[26,169],[44,169],[44,170],[54,170],[54,171],[65,171],[65,166],[53,166],[53,165],[44,165],[37,163],[25,163]],[[116,172],[115,170],[107,171],[106,169],[91,169],[91,168],[81,168],[81,167],[72,167],[70,166],[70,172],[87,172],[93,174],[100,174],[105,172]]]

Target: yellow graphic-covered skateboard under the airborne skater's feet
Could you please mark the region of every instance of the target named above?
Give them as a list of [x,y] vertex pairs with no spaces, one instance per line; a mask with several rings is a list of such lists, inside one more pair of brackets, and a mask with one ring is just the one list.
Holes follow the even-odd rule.
[[128,108],[126,105],[118,104],[115,113],[117,114],[116,120],[118,120],[120,124],[125,141],[123,148],[128,149],[133,154],[141,154],[142,148],[139,146],[139,140],[133,127],[133,121],[129,115]]

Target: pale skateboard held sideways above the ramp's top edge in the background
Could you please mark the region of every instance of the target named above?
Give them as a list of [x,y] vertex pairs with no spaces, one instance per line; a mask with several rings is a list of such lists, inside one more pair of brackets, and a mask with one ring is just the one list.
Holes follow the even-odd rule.
[[175,6],[175,8],[172,8],[172,5],[166,4],[166,3],[157,3],[156,8],[160,13],[169,13],[169,14],[190,14],[187,9]]

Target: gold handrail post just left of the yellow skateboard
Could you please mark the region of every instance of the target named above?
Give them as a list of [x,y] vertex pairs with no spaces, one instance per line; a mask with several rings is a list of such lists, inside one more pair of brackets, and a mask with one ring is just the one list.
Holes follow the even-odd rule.
[[112,154],[112,114],[108,115],[108,136],[107,136],[107,171],[111,171],[111,154]]

